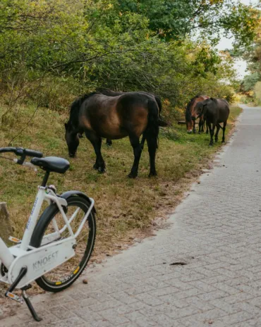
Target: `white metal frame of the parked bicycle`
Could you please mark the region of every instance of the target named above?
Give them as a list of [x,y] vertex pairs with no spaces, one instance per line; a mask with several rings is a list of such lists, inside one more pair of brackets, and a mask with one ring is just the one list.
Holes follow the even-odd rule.
[[[33,230],[35,229],[37,218],[40,214],[40,210],[42,208],[42,204],[44,201],[56,203],[58,206],[58,209],[61,213],[61,216],[63,217],[63,221],[65,225],[63,228],[59,229],[55,219],[53,219],[53,226],[54,226],[54,233],[51,233],[49,235],[44,235],[44,238],[42,240],[42,245],[40,248],[34,248],[30,246],[30,240],[32,237]],[[28,261],[28,264],[30,264],[30,261],[33,261],[35,257],[40,257],[40,255],[45,251],[47,252],[48,249],[52,249],[54,246],[57,246],[57,248],[60,246],[68,247],[68,256],[66,257],[66,254],[64,254],[63,258],[57,259],[57,264],[54,262],[51,266],[44,267],[44,271],[39,271],[38,273],[30,273],[28,271],[28,275],[25,276],[23,280],[21,280],[21,283],[18,285],[18,287],[22,287],[23,285],[27,285],[27,283],[30,283],[32,280],[35,280],[36,278],[42,276],[47,271],[50,271],[54,269],[56,266],[59,266],[59,264],[62,263],[62,261],[66,261],[70,259],[70,257],[74,256],[74,250],[71,249],[71,245],[75,244],[75,238],[78,237],[80,231],[83,229],[83,226],[87,220],[87,217],[89,216],[90,212],[92,211],[92,208],[94,206],[94,200],[90,198],[90,208],[88,209],[87,213],[83,217],[83,220],[80,223],[80,226],[78,227],[78,230],[73,233],[73,230],[71,228],[71,222],[75,218],[75,216],[78,214],[79,209],[76,209],[74,214],[68,218],[63,210],[63,207],[67,206],[66,199],[63,199],[62,197],[58,197],[50,188],[39,186],[37,196],[35,198],[35,202],[32,206],[32,211],[30,214],[30,217],[28,218],[28,223],[26,224],[25,232],[23,235],[23,239],[21,242],[19,242],[17,245],[13,247],[7,247],[3,240],[1,240],[0,237],[0,261],[6,266],[8,269],[8,276],[1,277],[0,281],[3,281],[4,283],[13,283],[13,279],[16,278],[16,273],[20,270],[20,261],[23,261],[25,264]],[[70,234],[69,237],[66,237],[65,240],[59,240],[61,238],[61,233],[64,232],[64,230],[68,229],[68,232]],[[58,240],[58,241],[57,241]],[[67,243],[66,243],[67,242]],[[66,245],[68,244],[68,245]],[[69,246],[70,245],[70,246]],[[28,251],[30,249],[30,251]],[[50,252],[51,253],[51,252]],[[34,257],[35,254],[35,257]],[[50,254],[49,254],[50,255]],[[23,258],[22,258],[23,257]],[[22,259],[22,260],[20,260]],[[47,269],[47,270],[46,270]],[[22,283],[23,282],[23,283]]]

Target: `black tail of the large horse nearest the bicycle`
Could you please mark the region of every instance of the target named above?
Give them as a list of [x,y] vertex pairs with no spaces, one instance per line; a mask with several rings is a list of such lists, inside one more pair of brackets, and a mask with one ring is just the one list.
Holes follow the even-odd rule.
[[159,137],[159,107],[156,101],[148,100],[148,116],[147,116],[147,128],[146,128],[146,139],[155,137],[156,147],[158,147]]

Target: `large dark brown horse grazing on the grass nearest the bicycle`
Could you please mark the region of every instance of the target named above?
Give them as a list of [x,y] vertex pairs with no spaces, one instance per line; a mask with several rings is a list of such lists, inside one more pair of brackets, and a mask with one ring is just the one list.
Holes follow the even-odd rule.
[[155,155],[159,135],[159,107],[154,97],[138,92],[117,97],[92,92],[76,99],[71,105],[70,118],[65,124],[69,156],[75,156],[79,145],[78,132],[84,130],[95,149],[96,161],[93,168],[105,171],[102,158],[102,137],[117,140],[129,137],[133,147],[134,162],[128,177],[138,175],[142,148],[140,135],[145,135],[150,154],[150,175],[157,175]]

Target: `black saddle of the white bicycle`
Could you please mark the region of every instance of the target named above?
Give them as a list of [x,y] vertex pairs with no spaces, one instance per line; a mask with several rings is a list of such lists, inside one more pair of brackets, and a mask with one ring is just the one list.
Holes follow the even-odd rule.
[[59,158],[59,156],[32,158],[31,163],[35,166],[39,166],[44,171],[54,171],[55,173],[65,173],[70,167],[69,161]]

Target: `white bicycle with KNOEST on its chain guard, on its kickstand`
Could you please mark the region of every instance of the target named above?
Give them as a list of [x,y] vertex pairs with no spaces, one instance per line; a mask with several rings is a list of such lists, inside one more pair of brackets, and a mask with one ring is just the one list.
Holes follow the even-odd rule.
[[[35,280],[44,290],[59,292],[80,276],[95,245],[95,202],[82,192],[57,195],[54,185],[47,186],[50,172],[68,170],[66,159],[43,158],[41,152],[15,147],[0,148],[4,152],[16,154],[19,159],[11,160],[20,165],[45,171],[23,239],[9,237],[16,245],[7,247],[0,237],[0,281],[11,285],[6,297],[18,302],[24,299],[33,318],[40,321],[25,291]],[[25,161],[27,156],[33,157],[30,162]],[[41,211],[44,201],[47,207]],[[13,294],[15,288],[22,290],[22,297]]]

